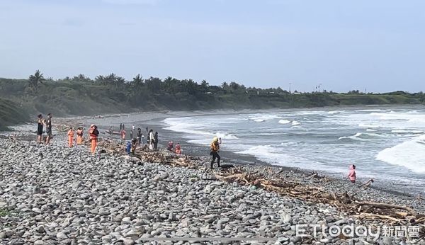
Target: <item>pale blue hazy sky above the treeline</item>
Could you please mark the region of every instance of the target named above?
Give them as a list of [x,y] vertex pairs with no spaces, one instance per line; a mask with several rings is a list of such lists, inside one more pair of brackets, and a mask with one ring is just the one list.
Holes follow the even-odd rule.
[[2,0],[0,77],[425,91],[425,1]]

